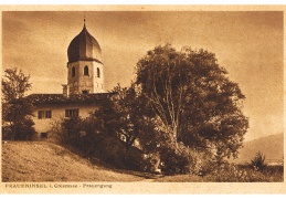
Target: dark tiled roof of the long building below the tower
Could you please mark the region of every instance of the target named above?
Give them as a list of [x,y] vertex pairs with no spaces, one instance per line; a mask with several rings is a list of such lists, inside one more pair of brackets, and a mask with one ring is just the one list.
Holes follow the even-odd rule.
[[45,103],[95,103],[109,98],[113,93],[96,93],[85,95],[70,95],[64,96],[63,94],[31,94],[27,96],[33,104],[45,104]]

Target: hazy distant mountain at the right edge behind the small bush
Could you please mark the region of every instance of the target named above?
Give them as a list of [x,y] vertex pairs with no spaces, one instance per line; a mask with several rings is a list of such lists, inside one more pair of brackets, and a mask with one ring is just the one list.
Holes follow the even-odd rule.
[[257,151],[265,155],[266,163],[272,160],[282,160],[284,156],[283,142],[283,134],[271,135],[246,142],[243,144],[244,147],[240,150],[239,158],[235,159],[234,163],[250,163]]

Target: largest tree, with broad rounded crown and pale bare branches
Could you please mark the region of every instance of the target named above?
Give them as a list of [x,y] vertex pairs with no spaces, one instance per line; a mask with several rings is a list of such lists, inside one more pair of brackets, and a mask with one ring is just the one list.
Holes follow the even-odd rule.
[[137,63],[136,84],[174,146],[220,159],[237,155],[248,127],[241,111],[245,96],[213,53],[157,46]]

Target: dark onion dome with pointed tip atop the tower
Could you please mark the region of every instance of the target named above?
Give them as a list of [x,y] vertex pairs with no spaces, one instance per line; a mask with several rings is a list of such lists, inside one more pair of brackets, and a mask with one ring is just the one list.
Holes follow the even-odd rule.
[[67,49],[68,63],[77,61],[96,61],[102,63],[102,49],[95,38],[88,33],[85,23]]

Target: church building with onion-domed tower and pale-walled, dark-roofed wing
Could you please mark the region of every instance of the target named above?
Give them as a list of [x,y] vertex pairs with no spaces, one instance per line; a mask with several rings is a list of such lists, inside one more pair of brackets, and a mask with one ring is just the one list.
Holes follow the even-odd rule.
[[67,48],[67,84],[62,84],[62,94],[28,96],[34,105],[35,139],[47,138],[54,121],[72,116],[88,117],[98,102],[110,97],[104,92],[102,49],[87,31],[85,21],[83,30]]

